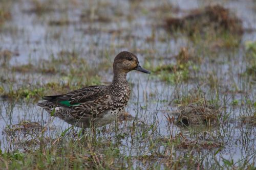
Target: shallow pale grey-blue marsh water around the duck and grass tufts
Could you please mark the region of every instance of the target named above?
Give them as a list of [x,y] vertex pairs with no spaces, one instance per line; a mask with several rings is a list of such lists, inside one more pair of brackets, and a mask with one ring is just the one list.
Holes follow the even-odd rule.
[[[88,17],[93,17],[93,12],[90,10],[94,6],[97,6],[97,4],[93,4],[92,2],[84,3],[77,1],[77,5],[71,5],[70,3],[61,4],[58,2],[53,4],[53,11],[36,14],[29,12],[33,6],[27,1],[13,1],[11,2],[12,19],[5,23],[3,30],[0,32],[0,41],[2,42],[0,49],[8,49],[19,53],[18,57],[13,57],[10,60],[11,65],[37,63],[40,59],[47,60],[51,55],[57,56],[60,51],[67,50],[77,51],[79,57],[87,59],[88,63],[95,66],[100,63],[102,58],[105,57],[105,54],[109,55],[108,60],[112,62],[115,54],[122,50],[136,53],[141,65],[145,63],[146,57],[152,56],[156,58],[151,60],[151,62],[154,62],[156,65],[172,62],[169,59],[165,60],[162,58],[170,58],[171,56],[177,55],[180,47],[193,46],[193,43],[186,37],[176,39],[169,36],[163,28],[154,26],[154,23],[156,20],[159,21],[159,18],[154,18],[151,9],[161,6],[161,4],[164,5],[165,3],[164,1],[157,5],[154,1],[151,3],[142,1],[139,5],[140,8],[138,8],[132,2],[122,1],[115,3],[110,1],[99,5],[101,7],[97,7],[103,11],[99,10],[99,13],[105,12],[105,16],[110,19],[109,22],[99,22],[97,20],[95,22],[88,22],[80,21],[80,15],[89,11],[90,16]],[[202,7],[208,3],[204,1],[189,1],[189,3],[187,1],[170,1],[169,4],[174,4],[181,10],[188,10]],[[245,96],[252,102],[255,102],[256,89],[247,86],[246,82],[243,83],[243,79],[239,78],[238,74],[241,74],[246,69],[244,62],[245,42],[256,40],[256,4],[254,1],[246,1],[246,3],[243,1],[223,1],[220,4],[236,13],[243,20],[243,27],[252,31],[243,34],[241,45],[235,52],[230,52],[229,50],[219,52],[217,54],[219,58],[215,60],[214,64],[204,62],[201,65],[202,71],[199,74],[200,76],[207,77],[209,73],[214,72],[214,75],[221,81],[220,84],[223,86],[221,87],[223,91],[224,88],[234,89],[232,85],[238,84],[238,88],[246,91],[246,94],[220,94],[220,100],[222,102],[224,98],[227,99],[228,108],[226,108],[226,111],[230,113],[230,120],[228,123],[221,125],[221,127],[214,128],[208,132],[206,131],[206,133],[221,134],[221,138],[218,141],[225,143],[224,148],[216,154],[217,159],[233,159],[234,162],[237,162],[245,157],[249,157],[252,158],[249,162],[253,162],[255,161],[256,153],[254,140],[256,127],[241,125],[239,118],[241,115],[252,115],[254,108],[249,110],[247,105],[233,107],[230,103],[232,99],[242,101]],[[107,10],[104,11],[105,6]],[[252,6],[254,6],[254,9]],[[135,10],[135,12],[131,12],[132,10]],[[178,15],[181,14],[178,13]],[[59,19],[68,20],[70,23],[62,26],[49,25],[50,21]],[[156,38],[153,41],[148,40],[153,34]],[[159,39],[164,39],[164,41],[160,41]],[[106,72],[99,70],[99,75],[103,77],[102,80],[104,82],[111,82],[112,76],[109,76],[111,74],[111,69]],[[6,76],[3,71],[1,76]],[[183,95],[187,94],[191,89],[198,89],[199,86],[206,93],[205,96],[207,99],[211,99],[216,94],[209,92],[210,89],[204,84],[205,82],[192,81],[179,83],[177,88],[173,84],[154,79],[154,76],[156,75],[148,76],[135,71],[128,74],[127,78],[132,85],[132,94],[129,105],[127,106],[127,112],[133,116],[137,114],[138,118],[148,125],[154,124],[158,120],[159,136],[168,136],[169,132],[173,132],[174,135],[182,132],[188,138],[197,138],[197,135],[193,136],[194,133],[191,133],[187,129],[175,125],[167,126],[167,120],[164,114],[171,113],[178,108],[177,105],[170,104],[169,101],[175,100],[177,91],[179,95]],[[32,73],[27,75],[21,73],[16,74],[15,77],[17,78],[16,84],[23,84],[23,79],[28,79],[28,84],[38,82],[44,84],[47,81],[58,81],[59,79],[61,81],[61,78],[58,78],[56,75],[45,76]],[[7,79],[9,79],[8,76]],[[2,100],[0,107],[0,127],[3,132],[0,133],[2,150],[20,149],[18,145],[8,142],[8,135],[4,132],[7,125],[18,124],[21,120],[30,120],[31,122],[39,122],[40,124],[47,124],[52,120],[46,112],[42,115],[42,110],[35,106],[34,103],[11,103],[10,101]],[[49,126],[53,127],[52,130],[48,130],[47,132],[49,136],[52,133],[58,134],[59,131],[62,132],[70,127],[70,125],[62,122],[58,118],[54,118]],[[140,147],[138,145],[136,147],[131,146],[128,142],[130,140],[131,138],[127,137],[122,143],[124,154],[139,156],[147,152],[140,150],[140,153],[138,153],[138,148]],[[143,145],[143,143],[141,144]],[[147,148],[144,149],[146,150]],[[198,153],[202,155],[209,154],[210,158],[214,157],[217,150],[218,148],[210,152],[208,150],[202,150]],[[179,152],[182,154],[185,151],[181,150]]]

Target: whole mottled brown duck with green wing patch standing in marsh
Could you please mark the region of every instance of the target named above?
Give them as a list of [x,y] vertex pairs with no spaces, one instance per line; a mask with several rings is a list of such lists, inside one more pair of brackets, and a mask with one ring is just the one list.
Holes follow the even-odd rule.
[[138,58],[129,52],[119,53],[114,60],[114,77],[109,86],[89,86],[67,94],[45,96],[38,103],[53,116],[80,128],[110,124],[125,108],[130,97],[127,72],[142,68]]

